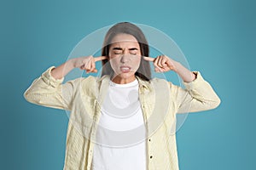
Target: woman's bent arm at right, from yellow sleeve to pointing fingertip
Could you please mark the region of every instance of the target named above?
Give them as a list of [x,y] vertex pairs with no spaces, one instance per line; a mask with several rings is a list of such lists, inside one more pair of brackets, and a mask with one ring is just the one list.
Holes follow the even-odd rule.
[[218,95],[211,85],[201,77],[200,72],[189,71],[177,61],[166,55],[157,58],[144,57],[154,62],[155,71],[175,71],[182,77],[186,89],[170,83],[172,96],[177,104],[177,113],[206,111],[216,108],[220,104]]

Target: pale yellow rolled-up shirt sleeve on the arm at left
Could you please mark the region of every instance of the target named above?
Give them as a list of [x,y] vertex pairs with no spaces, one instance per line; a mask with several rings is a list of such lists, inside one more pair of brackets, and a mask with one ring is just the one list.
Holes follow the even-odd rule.
[[49,67],[41,77],[35,79],[32,85],[26,89],[24,97],[32,104],[70,111],[76,89],[75,84],[78,80],[62,84],[64,77],[55,79],[51,76],[50,72],[54,68],[55,66]]

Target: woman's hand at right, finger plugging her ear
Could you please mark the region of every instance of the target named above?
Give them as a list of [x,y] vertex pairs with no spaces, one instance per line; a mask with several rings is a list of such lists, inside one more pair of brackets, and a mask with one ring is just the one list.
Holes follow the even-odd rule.
[[170,59],[166,55],[159,55],[156,58],[144,57],[144,59],[154,63],[154,71],[156,72],[177,72],[177,61]]

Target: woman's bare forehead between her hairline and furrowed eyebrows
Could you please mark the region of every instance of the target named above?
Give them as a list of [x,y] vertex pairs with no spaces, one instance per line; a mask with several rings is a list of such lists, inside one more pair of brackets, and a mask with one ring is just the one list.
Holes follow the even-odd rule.
[[112,47],[137,47],[139,48],[139,43],[137,42],[136,37],[133,37],[129,34],[118,34],[115,37],[113,37],[112,41]]

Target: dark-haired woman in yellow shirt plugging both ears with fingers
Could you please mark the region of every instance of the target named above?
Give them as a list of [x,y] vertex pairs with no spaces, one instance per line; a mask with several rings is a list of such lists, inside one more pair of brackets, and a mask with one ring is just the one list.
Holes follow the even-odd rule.
[[[29,102],[71,111],[64,169],[178,169],[171,133],[176,114],[213,109],[220,99],[198,71],[166,55],[148,55],[143,31],[118,23],[106,34],[102,56],[51,66],[26,90]],[[100,60],[101,78],[62,84],[74,68],[96,72]],[[175,71],[186,89],[151,78],[149,62],[155,71]]]

